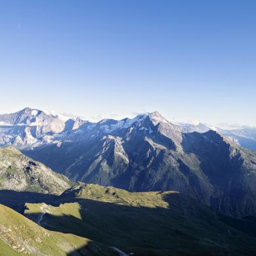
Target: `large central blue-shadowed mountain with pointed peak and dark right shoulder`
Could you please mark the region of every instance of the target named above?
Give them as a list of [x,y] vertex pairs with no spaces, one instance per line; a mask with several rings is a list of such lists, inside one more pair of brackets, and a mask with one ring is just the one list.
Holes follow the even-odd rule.
[[[122,122],[122,123],[120,123]],[[61,146],[26,151],[74,181],[177,190],[236,216],[256,215],[256,154],[215,131],[182,133],[157,112],[85,123]]]

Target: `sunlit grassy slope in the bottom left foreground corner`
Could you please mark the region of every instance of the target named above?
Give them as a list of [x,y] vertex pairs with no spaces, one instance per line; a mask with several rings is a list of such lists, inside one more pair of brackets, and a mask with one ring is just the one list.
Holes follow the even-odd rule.
[[41,228],[20,213],[0,205],[0,255],[118,255],[112,249],[74,234]]

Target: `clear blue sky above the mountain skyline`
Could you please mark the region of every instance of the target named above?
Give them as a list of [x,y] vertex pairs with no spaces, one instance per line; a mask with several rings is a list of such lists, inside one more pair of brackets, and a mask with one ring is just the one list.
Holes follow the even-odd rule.
[[0,1],[0,112],[256,125],[256,1]]

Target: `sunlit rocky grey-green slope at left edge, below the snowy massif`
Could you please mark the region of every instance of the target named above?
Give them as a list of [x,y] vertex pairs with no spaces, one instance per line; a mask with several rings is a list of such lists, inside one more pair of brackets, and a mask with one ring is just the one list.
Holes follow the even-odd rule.
[[61,194],[72,185],[64,175],[24,156],[13,146],[0,148],[0,189]]

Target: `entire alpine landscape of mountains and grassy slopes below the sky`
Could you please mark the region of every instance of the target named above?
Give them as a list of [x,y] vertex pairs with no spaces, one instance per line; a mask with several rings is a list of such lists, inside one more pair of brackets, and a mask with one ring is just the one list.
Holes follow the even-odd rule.
[[256,128],[0,115],[1,255],[255,255]]

